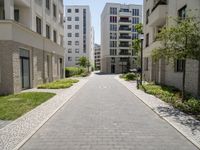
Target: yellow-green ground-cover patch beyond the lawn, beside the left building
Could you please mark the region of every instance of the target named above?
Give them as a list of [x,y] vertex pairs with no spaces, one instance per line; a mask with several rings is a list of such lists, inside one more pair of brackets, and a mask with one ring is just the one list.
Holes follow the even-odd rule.
[[76,79],[61,79],[54,82],[39,85],[39,89],[64,89],[71,87],[74,83],[79,82]]

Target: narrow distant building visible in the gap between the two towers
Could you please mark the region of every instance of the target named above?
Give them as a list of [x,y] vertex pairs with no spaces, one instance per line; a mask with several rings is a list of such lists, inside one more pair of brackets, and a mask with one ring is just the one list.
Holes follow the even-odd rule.
[[94,64],[95,64],[95,70],[101,70],[101,46],[98,44],[95,44],[94,48]]

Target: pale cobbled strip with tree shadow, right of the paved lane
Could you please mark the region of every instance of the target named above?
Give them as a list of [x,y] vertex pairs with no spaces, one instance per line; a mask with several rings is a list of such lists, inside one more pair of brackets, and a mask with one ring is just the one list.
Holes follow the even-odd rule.
[[124,81],[119,76],[116,76],[115,79],[200,149],[200,121],[175,109],[155,96],[138,90],[136,82]]

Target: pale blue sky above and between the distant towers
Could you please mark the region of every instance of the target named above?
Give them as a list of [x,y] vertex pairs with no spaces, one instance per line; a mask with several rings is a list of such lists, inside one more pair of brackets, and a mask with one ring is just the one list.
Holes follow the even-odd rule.
[[89,5],[92,15],[92,25],[95,30],[95,43],[100,44],[100,16],[107,2],[122,4],[142,4],[143,0],[64,0],[65,5]]

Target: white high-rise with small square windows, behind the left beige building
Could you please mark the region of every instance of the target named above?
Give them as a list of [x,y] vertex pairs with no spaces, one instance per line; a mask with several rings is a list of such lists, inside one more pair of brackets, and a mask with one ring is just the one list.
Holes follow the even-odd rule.
[[65,7],[65,66],[77,66],[79,58],[91,60],[93,30],[89,6],[68,5]]

